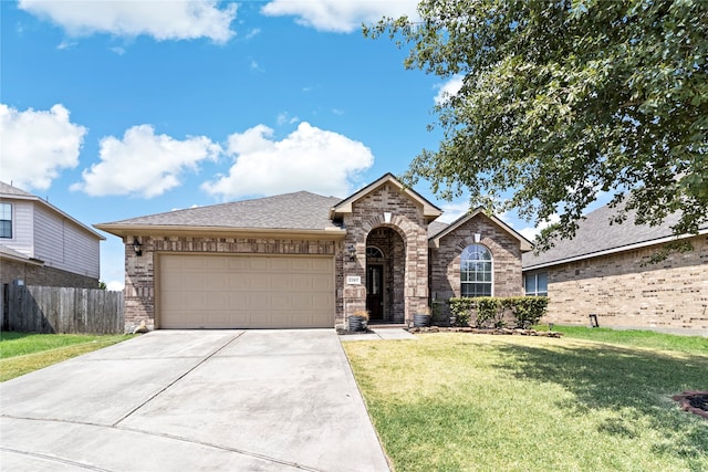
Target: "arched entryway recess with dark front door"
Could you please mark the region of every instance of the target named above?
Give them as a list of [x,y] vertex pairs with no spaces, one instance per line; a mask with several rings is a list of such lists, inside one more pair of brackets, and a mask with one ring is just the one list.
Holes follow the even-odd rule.
[[393,228],[377,227],[366,237],[366,310],[372,322],[405,321],[406,244]]

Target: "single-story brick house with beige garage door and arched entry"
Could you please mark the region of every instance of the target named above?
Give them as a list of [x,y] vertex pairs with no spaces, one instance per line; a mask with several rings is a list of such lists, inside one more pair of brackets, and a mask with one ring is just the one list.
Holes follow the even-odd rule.
[[345,198],[306,191],[95,227],[125,243],[126,329],[405,323],[460,294],[522,295],[531,250],[481,211],[446,225],[394,176]]

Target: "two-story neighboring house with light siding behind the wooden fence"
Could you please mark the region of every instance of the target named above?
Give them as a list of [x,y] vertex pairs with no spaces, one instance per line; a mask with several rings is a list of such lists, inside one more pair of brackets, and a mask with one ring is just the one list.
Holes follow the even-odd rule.
[[103,240],[46,200],[0,182],[0,283],[97,289]]

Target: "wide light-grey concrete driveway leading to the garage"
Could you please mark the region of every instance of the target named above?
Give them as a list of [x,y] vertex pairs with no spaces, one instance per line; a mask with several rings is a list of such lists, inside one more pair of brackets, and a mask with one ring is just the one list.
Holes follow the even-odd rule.
[[0,469],[387,471],[333,329],[158,331],[0,384]]

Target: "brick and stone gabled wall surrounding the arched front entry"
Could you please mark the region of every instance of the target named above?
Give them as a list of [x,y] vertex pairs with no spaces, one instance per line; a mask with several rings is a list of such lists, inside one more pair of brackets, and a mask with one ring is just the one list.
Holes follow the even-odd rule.
[[[384,212],[391,212],[386,221]],[[402,323],[428,304],[428,237],[423,207],[391,183],[383,183],[352,203],[352,213],[344,217],[344,247],[356,248],[356,260],[343,261],[345,316],[366,307],[366,242],[376,228],[389,228],[403,240],[403,306],[394,307],[392,321]],[[394,268],[399,270],[400,265]],[[339,270],[339,268],[337,268]],[[357,275],[361,285],[347,285],[346,276]],[[402,310],[403,308],[403,310]],[[337,313],[337,324],[343,323]]]

